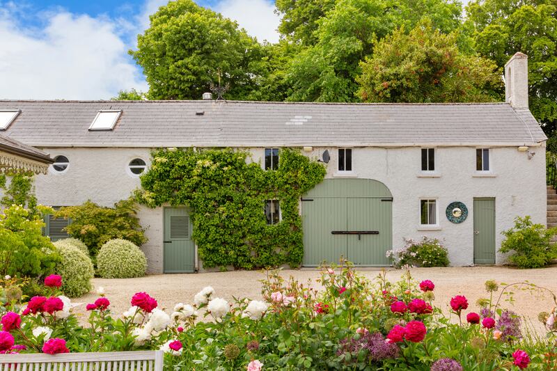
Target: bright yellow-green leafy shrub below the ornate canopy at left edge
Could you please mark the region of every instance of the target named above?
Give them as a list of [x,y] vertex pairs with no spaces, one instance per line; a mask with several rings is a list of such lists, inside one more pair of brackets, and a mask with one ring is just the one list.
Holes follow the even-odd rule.
[[[46,208],[42,209],[46,212]],[[60,256],[48,237],[40,216],[13,205],[0,214],[0,275],[44,276],[54,271]]]

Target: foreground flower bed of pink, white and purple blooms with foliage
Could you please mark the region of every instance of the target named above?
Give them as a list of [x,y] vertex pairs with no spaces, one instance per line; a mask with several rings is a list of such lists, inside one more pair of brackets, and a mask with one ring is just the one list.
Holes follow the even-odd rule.
[[[166,370],[557,369],[555,308],[540,315],[547,336],[536,338],[502,308],[509,287],[493,281],[485,285],[493,299],[480,300],[478,311],[462,295],[450,300],[457,324],[432,306],[434,283],[417,283],[409,273],[390,283],[383,274],[368,281],[351,267],[325,267],[320,282],[323,290],[317,291],[269,272],[263,301],[229,303],[205,287],[194,303],[177,303],[169,313],[137,292],[131,308],[116,315],[101,292],[86,305],[88,326],[79,326],[72,303],[59,294],[60,278],[47,277],[49,297],[5,303],[0,350],[163,349]],[[196,321],[199,316],[206,320]]]

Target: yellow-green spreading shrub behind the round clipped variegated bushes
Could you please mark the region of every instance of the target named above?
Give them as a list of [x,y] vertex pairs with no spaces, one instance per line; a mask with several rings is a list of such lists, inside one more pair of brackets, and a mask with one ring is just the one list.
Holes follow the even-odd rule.
[[111,239],[123,238],[139,246],[147,242],[132,199],[118,201],[114,207],[87,201],[79,206],[62,207],[56,217],[72,219],[66,227],[68,235],[84,242],[91,256],[97,255],[100,246]]

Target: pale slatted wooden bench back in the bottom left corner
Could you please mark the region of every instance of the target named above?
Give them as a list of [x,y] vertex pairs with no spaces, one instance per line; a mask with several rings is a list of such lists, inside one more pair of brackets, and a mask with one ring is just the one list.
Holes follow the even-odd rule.
[[0,371],[162,371],[162,365],[162,350],[0,355]]

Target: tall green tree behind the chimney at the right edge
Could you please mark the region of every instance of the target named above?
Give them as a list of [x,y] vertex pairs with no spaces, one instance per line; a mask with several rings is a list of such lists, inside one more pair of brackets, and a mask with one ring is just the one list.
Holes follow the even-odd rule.
[[557,127],[557,1],[476,0],[466,8],[476,50],[502,67],[528,55],[530,109],[547,134]]

